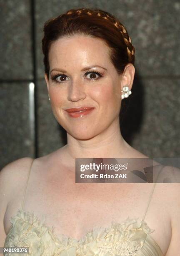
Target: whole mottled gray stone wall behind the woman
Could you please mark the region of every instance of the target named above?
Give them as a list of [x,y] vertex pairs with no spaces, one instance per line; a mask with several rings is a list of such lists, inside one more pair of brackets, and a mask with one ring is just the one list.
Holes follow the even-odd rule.
[[[180,156],[180,3],[177,0],[0,0],[0,167],[39,157],[66,143],[47,97],[43,23],[70,8],[114,14],[135,46],[133,94],[125,99],[122,134],[152,158]],[[35,84],[35,120],[33,91]],[[131,97],[133,96],[133,97]]]

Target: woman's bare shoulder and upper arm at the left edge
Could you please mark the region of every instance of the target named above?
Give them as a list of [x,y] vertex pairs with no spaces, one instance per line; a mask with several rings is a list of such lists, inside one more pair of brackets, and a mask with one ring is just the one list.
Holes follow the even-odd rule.
[[[32,158],[24,157],[17,159],[0,171],[0,247],[3,247],[5,241],[4,216],[8,202],[13,196],[13,192],[20,188],[20,184],[27,179],[28,170],[32,163]],[[22,182],[21,182],[22,181]]]

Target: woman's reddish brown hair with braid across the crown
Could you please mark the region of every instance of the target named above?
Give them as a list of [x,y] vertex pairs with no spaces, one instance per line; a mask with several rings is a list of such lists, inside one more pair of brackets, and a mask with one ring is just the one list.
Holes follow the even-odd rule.
[[120,21],[100,9],[78,8],[51,18],[45,22],[42,51],[44,54],[45,73],[49,79],[48,53],[51,44],[63,36],[83,35],[102,39],[110,49],[110,60],[122,74],[128,63],[135,62],[135,48],[131,43],[126,28]]

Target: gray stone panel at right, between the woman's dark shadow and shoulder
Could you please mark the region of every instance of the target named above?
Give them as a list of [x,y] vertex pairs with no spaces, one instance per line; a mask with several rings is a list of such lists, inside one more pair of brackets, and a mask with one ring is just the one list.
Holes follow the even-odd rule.
[[142,79],[144,117],[132,146],[152,158],[180,156],[180,79]]

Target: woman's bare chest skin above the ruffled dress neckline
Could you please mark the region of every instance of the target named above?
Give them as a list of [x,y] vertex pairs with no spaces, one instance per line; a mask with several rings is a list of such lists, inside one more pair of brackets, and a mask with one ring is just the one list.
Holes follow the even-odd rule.
[[[23,210],[35,212],[47,226],[55,227],[55,234],[80,239],[92,228],[122,223],[127,217],[143,218],[153,184],[75,184],[72,176],[31,176],[25,194]],[[22,192],[12,200],[5,216],[5,230],[9,218],[20,207]],[[163,216],[163,218],[162,218]],[[170,243],[170,219],[166,203],[157,189],[153,193],[145,221],[155,231],[151,236],[162,250]],[[163,234],[163,236],[162,236]]]

